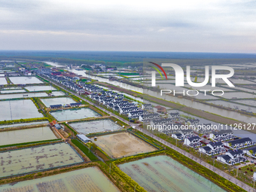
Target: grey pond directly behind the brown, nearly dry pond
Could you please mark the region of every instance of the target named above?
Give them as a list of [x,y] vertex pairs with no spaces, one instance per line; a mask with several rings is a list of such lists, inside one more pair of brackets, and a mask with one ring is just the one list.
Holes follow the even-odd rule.
[[105,131],[114,131],[122,129],[122,126],[119,126],[117,123],[114,123],[113,120],[103,119],[103,120],[87,120],[78,123],[69,123],[78,133],[87,135],[89,133],[105,132]]

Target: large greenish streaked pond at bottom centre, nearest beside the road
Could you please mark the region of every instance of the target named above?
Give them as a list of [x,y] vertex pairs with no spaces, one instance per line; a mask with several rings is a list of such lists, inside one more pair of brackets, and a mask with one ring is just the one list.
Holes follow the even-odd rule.
[[123,163],[119,168],[147,191],[225,191],[166,155]]

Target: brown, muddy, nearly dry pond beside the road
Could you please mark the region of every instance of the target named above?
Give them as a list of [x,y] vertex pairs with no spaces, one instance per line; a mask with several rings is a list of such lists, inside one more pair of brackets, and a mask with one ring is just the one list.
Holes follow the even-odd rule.
[[133,136],[131,133],[114,133],[99,136],[93,142],[111,158],[127,157],[157,150],[154,146]]

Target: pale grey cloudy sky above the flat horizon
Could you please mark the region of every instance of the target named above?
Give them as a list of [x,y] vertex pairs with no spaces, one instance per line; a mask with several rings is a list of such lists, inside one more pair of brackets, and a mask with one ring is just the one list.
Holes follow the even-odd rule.
[[0,0],[0,50],[256,53],[256,2]]

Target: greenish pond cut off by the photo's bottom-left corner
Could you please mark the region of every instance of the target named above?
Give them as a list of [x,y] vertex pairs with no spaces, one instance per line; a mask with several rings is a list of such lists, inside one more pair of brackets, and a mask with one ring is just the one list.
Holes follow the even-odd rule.
[[88,167],[59,175],[37,178],[0,186],[0,192],[47,191],[47,192],[117,192],[118,188],[98,167]]

